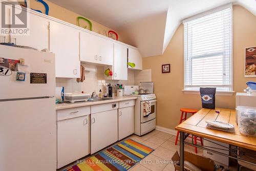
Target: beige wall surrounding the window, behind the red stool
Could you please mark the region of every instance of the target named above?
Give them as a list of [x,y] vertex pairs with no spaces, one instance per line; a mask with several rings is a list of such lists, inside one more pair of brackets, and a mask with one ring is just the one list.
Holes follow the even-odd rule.
[[[244,48],[256,45],[256,16],[241,6],[233,6],[233,90],[243,92]],[[170,73],[162,74],[161,65],[170,63]],[[201,108],[200,95],[183,94],[183,25],[177,29],[163,55],[143,58],[143,69],[152,69],[157,95],[157,125],[174,129],[179,122],[180,108]],[[233,96],[216,96],[219,108],[235,108]]]

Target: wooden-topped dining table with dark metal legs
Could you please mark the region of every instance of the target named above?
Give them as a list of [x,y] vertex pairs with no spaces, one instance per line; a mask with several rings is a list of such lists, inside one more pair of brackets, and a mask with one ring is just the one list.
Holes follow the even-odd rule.
[[[209,129],[206,127],[207,123],[205,122],[205,120],[217,120],[230,123],[234,125],[234,133]],[[184,169],[184,144],[189,144],[184,140],[188,137],[189,134],[256,151],[256,137],[243,135],[239,132],[238,124],[236,123],[235,110],[221,108],[211,110],[203,108],[193,116],[186,119],[184,122],[180,123],[178,126],[176,126],[175,129],[177,131],[180,131],[180,170]],[[194,143],[192,143],[192,145],[202,149],[207,149]],[[212,151],[212,149],[207,150],[215,152]],[[227,156],[225,154],[221,154],[220,152],[215,153]],[[228,157],[234,158],[233,156]],[[241,158],[235,158],[237,160],[244,161]],[[256,165],[255,163],[251,163],[249,161],[244,162]]]

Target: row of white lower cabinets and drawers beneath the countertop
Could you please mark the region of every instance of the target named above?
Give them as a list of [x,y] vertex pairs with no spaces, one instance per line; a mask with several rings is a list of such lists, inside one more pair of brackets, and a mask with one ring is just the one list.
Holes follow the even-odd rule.
[[134,105],[125,100],[58,110],[57,168],[133,134]]

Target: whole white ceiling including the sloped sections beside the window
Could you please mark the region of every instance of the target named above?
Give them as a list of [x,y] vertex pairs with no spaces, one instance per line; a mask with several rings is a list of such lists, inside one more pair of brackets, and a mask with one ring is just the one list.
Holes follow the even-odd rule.
[[234,3],[256,15],[255,0],[49,0],[116,30],[142,56],[161,55],[182,20]]

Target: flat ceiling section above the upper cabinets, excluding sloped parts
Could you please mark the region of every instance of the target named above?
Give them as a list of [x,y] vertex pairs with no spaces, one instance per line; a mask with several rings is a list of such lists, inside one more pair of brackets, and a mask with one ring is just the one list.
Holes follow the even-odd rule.
[[167,11],[169,0],[49,0],[117,30],[148,15]]

